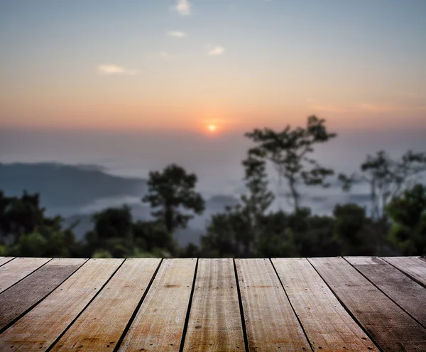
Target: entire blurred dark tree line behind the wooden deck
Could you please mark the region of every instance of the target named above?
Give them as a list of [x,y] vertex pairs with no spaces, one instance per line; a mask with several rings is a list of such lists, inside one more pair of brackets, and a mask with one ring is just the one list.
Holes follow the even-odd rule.
[[[244,167],[245,194],[208,221],[201,246],[182,248],[174,238],[195,214],[204,211],[197,175],[180,165],[150,172],[141,202],[153,219],[134,221],[129,207],[108,208],[93,216],[93,229],[77,240],[63,218],[46,216],[43,194],[23,190],[21,197],[0,191],[0,255],[72,258],[266,258],[335,255],[426,254],[426,153],[408,150],[391,158],[380,150],[366,156],[358,171],[336,175],[314,157],[315,146],[337,138],[326,121],[309,116],[305,126],[282,131],[254,129]],[[272,211],[268,188],[272,166],[288,191],[292,211]],[[330,216],[304,207],[300,187],[339,182],[351,192],[357,182],[369,185],[370,205],[337,204]],[[1,185],[0,185],[1,188]]]

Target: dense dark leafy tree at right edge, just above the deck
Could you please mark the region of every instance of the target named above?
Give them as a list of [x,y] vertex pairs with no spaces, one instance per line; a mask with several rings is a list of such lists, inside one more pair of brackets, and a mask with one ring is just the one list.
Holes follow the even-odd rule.
[[389,240],[403,255],[426,254],[426,187],[417,184],[386,207],[392,226]]

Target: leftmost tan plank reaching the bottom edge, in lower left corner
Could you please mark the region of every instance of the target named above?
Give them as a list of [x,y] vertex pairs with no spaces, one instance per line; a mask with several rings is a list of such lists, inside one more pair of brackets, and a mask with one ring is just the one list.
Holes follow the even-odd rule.
[[0,334],[6,351],[45,351],[119,268],[122,259],[89,259],[48,297]]

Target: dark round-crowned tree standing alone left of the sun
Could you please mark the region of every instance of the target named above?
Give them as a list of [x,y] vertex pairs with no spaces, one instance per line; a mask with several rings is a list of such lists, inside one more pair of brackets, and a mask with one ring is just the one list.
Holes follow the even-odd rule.
[[[195,192],[196,183],[195,174],[188,174],[178,165],[168,165],[163,172],[149,173],[148,194],[142,201],[151,204],[151,214],[173,233],[175,229],[185,228],[193,214],[204,211],[204,199]],[[192,214],[183,209],[192,211]]]

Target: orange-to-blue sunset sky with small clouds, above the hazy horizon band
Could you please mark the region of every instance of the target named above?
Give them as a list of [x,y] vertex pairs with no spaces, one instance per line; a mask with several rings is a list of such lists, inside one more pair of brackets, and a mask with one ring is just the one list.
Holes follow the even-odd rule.
[[426,1],[2,0],[0,130],[426,126]]

